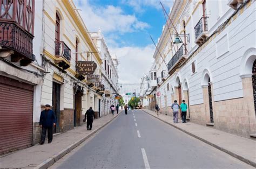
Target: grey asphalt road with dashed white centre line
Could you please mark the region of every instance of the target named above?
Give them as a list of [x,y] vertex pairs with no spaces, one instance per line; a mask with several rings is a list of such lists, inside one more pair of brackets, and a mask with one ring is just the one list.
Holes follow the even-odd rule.
[[129,110],[51,168],[252,167],[142,110]]

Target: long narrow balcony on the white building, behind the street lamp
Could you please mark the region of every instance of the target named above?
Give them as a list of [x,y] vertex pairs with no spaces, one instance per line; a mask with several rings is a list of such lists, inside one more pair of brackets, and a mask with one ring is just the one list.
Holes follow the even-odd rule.
[[174,54],[174,56],[172,57],[172,59],[169,61],[167,65],[168,73],[172,75],[176,71],[176,69],[179,68],[181,64],[183,64],[183,62],[186,59],[187,59],[187,55],[186,55],[185,47],[184,45],[181,45],[179,50]]

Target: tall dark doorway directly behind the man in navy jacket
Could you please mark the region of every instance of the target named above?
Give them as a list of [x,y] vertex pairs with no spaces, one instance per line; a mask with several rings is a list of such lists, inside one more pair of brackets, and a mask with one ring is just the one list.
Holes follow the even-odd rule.
[[52,82],[52,110],[55,112],[55,116],[57,119],[57,123],[53,132],[57,133],[60,132],[60,84],[56,82]]

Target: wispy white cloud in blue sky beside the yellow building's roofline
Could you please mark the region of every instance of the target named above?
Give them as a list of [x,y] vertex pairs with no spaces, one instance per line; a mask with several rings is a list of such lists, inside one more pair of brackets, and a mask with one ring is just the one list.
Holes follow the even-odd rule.
[[126,15],[121,8],[113,5],[93,6],[87,0],[76,1],[76,4],[77,8],[82,9],[81,15],[90,31],[97,31],[100,27],[104,33],[127,33],[149,27],[135,15]]

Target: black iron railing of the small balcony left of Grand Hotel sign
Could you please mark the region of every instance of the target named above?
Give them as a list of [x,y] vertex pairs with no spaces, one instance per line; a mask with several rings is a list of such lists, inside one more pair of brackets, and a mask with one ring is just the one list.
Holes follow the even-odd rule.
[[71,50],[64,41],[55,41],[55,55],[63,57],[70,62]]

